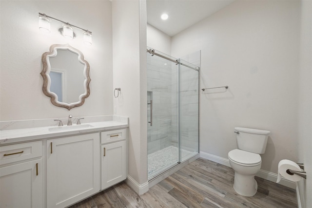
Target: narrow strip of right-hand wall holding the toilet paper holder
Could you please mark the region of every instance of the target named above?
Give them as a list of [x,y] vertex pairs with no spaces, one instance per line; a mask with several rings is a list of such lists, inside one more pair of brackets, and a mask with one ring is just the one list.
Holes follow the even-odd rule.
[[301,180],[299,195],[302,207],[312,207],[312,1],[301,1],[299,71],[299,112],[298,112],[298,161],[304,163],[307,180]]

